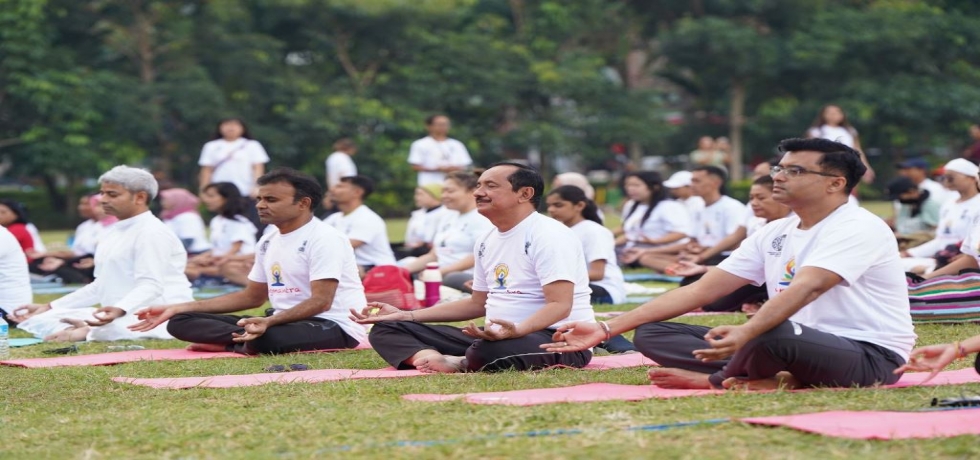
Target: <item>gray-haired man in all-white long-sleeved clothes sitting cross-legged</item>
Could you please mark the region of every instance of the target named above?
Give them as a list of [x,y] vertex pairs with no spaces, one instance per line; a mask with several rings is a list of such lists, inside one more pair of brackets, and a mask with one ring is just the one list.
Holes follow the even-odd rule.
[[119,222],[95,252],[95,281],[51,303],[16,308],[10,318],[47,341],[172,338],[165,328],[128,329],[137,322],[131,312],[193,300],[184,245],[149,210],[157,181],[143,169],[116,166],[99,184],[102,207]]

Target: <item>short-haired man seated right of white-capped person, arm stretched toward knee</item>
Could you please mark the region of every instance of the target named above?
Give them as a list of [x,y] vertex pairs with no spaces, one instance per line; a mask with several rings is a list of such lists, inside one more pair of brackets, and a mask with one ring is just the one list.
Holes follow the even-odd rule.
[[725,195],[727,174],[717,166],[698,166],[691,172],[691,189],[704,200],[696,218],[694,238],[686,243],[651,248],[640,256],[640,264],[661,269],[683,258],[686,261],[715,265],[745,239],[748,210],[738,200]]

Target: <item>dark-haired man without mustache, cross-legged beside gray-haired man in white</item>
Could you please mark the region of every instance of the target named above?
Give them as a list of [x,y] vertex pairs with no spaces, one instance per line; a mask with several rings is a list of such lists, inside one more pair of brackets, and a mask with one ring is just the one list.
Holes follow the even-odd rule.
[[[280,168],[258,180],[258,211],[275,226],[258,243],[248,285],[213,299],[151,307],[131,328],[167,330],[198,351],[280,354],[354,348],[366,339],[347,309],[365,305],[354,251],[347,239],[313,215],[323,188],[298,171]],[[266,316],[226,313],[257,308]]]

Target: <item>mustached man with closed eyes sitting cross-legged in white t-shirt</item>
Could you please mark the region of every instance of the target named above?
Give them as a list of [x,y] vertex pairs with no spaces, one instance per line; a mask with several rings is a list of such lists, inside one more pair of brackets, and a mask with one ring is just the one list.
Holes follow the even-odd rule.
[[[477,209],[495,228],[474,247],[472,297],[413,312],[380,303],[351,311],[359,322],[375,323],[371,345],[385,361],[447,373],[589,363],[589,350],[538,348],[567,321],[595,321],[582,247],[568,227],[536,212],[542,192],[541,175],[524,165],[498,163],[480,176]],[[427,324],[484,316],[483,328]]]

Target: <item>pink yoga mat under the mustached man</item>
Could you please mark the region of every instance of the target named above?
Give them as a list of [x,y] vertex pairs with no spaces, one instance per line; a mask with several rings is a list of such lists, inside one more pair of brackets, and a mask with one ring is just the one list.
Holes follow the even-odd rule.
[[[590,370],[619,369],[623,367],[652,366],[653,361],[645,358],[639,353],[628,355],[598,356],[586,366]],[[233,388],[250,387],[265,385],[267,383],[317,383],[333,382],[337,380],[357,380],[357,379],[386,379],[400,377],[418,377],[428,375],[416,370],[395,370],[393,368],[368,370],[368,369],[317,369],[309,371],[269,373],[269,374],[247,374],[247,375],[218,375],[210,377],[183,377],[183,378],[153,378],[138,379],[129,377],[115,377],[112,380],[119,383],[129,383],[151,388]]]

